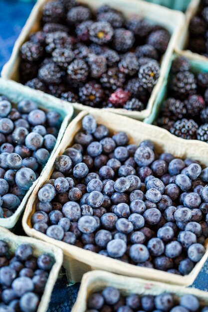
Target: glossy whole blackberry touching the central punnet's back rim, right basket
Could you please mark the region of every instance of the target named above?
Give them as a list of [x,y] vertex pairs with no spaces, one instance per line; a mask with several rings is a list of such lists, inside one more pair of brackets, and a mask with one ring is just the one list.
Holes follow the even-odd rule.
[[198,124],[193,119],[177,120],[170,132],[180,138],[187,140],[195,140],[197,137]]

